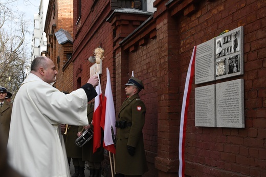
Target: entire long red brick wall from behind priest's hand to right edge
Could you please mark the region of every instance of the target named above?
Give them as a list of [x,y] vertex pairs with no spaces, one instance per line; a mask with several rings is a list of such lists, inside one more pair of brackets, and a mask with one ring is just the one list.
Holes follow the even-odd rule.
[[[263,176],[266,173],[266,2],[156,0],[154,13],[141,11],[140,2],[74,1],[72,88],[86,83],[93,64],[87,58],[93,56],[95,48],[102,47],[105,50],[100,76],[102,92],[108,67],[118,113],[126,98],[124,84],[134,71],[135,77],[144,83],[145,90],[140,96],[147,107],[143,134],[149,171],[144,176],[176,176],[182,99],[193,47],[224,30],[243,26],[244,74],[202,85],[244,79],[245,128],[196,127],[194,89],[198,85],[193,84],[185,174]],[[46,33],[51,44],[54,18],[50,19]],[[59,29],[58,24],[56,31]],[[49,50],[48,54],[57,63],[57,56]],[[104,168],[107,167],[105,162]]]

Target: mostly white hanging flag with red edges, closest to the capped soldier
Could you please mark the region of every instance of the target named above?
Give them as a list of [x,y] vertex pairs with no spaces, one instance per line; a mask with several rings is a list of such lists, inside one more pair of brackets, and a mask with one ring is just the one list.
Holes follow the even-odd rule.
[[[101,118],[101,127],[104,129],[103,137],[103,148],[106,150],[116,153],[116,148],[114,144],[115,135],[116,135],[116,114],[115,114],[115,105],[112,94],[111,79],[108,68],[106,68],[107,83],[105,87],[103,109],[102,109],[102,118]],[[111,129],[113,128],[113,130]]]

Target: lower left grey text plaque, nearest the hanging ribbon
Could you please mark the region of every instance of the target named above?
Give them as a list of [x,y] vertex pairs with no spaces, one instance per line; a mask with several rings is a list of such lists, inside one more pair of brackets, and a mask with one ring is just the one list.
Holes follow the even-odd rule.
[[195,88],[195,126],[216,126],[215,84]]

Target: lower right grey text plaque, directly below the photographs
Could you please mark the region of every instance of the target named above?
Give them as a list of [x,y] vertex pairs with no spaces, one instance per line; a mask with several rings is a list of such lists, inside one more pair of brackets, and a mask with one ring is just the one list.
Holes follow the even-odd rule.
[[243,79],[216,84],[216,124],[217,127],[245,127]]

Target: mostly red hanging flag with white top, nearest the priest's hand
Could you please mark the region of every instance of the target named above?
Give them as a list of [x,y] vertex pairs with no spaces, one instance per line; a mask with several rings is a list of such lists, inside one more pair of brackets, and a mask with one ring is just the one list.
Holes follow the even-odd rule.
[[[98,78],[99,74],[98,74]],[[94,113],[93,113],[93,153],[101,146],[101,116],[102,116],[102,89],[101,82],[95,88],[97,96],[94,101]]]

